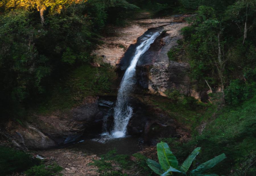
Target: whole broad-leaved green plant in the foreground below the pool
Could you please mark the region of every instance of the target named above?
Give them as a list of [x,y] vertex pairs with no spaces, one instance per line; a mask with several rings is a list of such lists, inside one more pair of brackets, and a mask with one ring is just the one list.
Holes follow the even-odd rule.
[[178,165],[177,158],[171,152],[167,143],[158,143],[156,145],[156,149],[159,163],[148,159],[147,164],[150,169],[161,176],[173,175],[173,173],[180,173],[190,176],[215,176],[217,174],[203,173],[226,158],[224,153],[220,154],[219,156],[216,156],[215,158],[212,158],[211,160],[199,165],[196,169],[187,174],[190,165],[192,164],[195,157],[199,154],[201,147],[195,148],[195,150],[191,152],[191,154],[187,157],[181,166]]

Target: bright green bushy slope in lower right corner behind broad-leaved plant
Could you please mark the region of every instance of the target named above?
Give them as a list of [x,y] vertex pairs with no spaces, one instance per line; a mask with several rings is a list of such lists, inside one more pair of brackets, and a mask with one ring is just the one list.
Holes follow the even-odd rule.
[[194,135],[191,141],[181,143],[174,138],[162,140],[180,159],[185,159],[195,146],[202,146],[203,155],[197,156],[196,163],[207,161],[215,153],[225,152],[227,159],[213,170],[218,174],[255,175],[256,97],[238,107],[226,106],[215,112],[214,119],[202,134]]

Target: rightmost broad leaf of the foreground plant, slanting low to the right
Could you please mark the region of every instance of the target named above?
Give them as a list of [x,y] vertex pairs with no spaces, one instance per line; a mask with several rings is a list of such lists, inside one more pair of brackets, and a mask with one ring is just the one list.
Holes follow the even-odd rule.
[[215,158],[212,158],[211,160],[199,165],[196,169],[191,171],[191,175],[195,175],[195,173],[203,173],[207,171],[208,169],[214,167],[216,164],[224,160],[226,155],[224,153],[220,154],[219,156],[216,156]]

